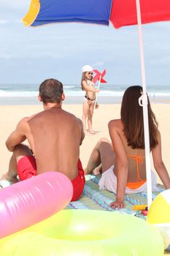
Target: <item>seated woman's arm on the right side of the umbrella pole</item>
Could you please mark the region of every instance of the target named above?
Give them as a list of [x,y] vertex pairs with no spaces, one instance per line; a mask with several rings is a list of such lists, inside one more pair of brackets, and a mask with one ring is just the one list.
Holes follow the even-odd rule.
[[158,145],[155,146],[155,148],[152,148],[152,158],[153,158],[153,164],[155,167],[156,172],[158,173],[159,178],[161,178],[161,181],[163,183],[163,186],[166,189],[170,189],[170,178],[169,173],[166,170],[166,167],[163,163],[162,159],[162,152],[161,152],[161,134],[158,131]]

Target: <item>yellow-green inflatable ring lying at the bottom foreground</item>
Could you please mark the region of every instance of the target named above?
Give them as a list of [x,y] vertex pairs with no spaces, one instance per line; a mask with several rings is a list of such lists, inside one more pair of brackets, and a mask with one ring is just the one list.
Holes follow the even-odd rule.
[[0,239],[0,255],[161,256],[163,238],[152,225],[128,214],[63,210]]

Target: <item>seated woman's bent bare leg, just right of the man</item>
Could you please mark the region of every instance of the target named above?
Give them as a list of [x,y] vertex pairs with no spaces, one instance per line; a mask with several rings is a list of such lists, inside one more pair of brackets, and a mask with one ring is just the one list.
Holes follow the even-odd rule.
[[98,167],[95,170],[96,172],[102,168],[102,172],[104,173],[104,171],[108,170],[112,165],[114,165],[112,144],[107,140],[107,138],[102,138],[93,148],[90,159],[88,160],[88,165],[85,168],[85,174],[92,173],[96,167]]

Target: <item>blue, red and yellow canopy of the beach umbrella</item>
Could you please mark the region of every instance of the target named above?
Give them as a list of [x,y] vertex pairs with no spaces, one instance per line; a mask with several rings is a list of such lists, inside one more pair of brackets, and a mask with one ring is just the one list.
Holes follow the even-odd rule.
[[[170,20],[169,0],[140,0],[142,23]],[[136,0],[32,0],[23,23],[40,26],[47,23],[82,22],[115,28],[137,24]]]

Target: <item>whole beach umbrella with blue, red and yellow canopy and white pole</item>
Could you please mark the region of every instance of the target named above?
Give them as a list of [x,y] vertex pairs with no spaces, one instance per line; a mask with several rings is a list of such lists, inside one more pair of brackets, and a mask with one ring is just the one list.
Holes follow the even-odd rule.
[[147,171],[147,205],[152,203],[150,138],[147,113],[147,86],[144,70],[142,23],[170,20],[169,0],[32,0],[23,23],[41,26],[47,23],[80,22],[109,26],[138,25],[143,94],[139,98],[144,116],[144,143]]

